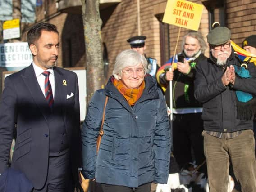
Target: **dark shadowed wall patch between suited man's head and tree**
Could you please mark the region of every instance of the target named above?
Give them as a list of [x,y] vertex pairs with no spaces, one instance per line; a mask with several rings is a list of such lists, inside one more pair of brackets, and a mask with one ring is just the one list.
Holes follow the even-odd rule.
[[82,15],[68,14],[61,36],[63,67],[85,67]]

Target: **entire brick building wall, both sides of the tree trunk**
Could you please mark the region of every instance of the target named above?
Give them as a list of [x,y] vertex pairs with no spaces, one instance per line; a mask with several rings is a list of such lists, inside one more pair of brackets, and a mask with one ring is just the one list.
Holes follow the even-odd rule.
[[[201,0],[189,0],[201,4]],[[58,13],[55,0],[44,1],[47,3],[37,8],[37,22],[50,22],[59,30],[60,52],[59,66],[73,67],[85,66],[85,47],[83,37],[82,16],[67,13]],[[165,11],[167,0],[140,0],[140,29],[141,35],[147,36],[146,54],[156,58],[160,63],[160,15]],[[241,45],[242,40],[256,34],[256,1],[255,0],[226,0],[225,17],[227,27],[232,31],[232,40]],[[47,10],[45,10],[47,8]],[[45,14],[46,13],[46,14]],[[122,50],[129,49],[127,39],[138,35],[137,29],[137,0],[122,0],[116,6],[101,10],[103,20],[102,43],[108,50],[109,73],[112,74],[114,60]],[[158,20],[159,19],[159,20]],[[178,37],[179,27],[169,25],[170,55]],[[187,29],[181,28],[177,52],[181,51],[182,37]],[[199,31],[206,40],[208,34],[208,11],[204,8]],[[23,34],[23,40],[25,36]],[[206,50],[206,56],[209,50]]]

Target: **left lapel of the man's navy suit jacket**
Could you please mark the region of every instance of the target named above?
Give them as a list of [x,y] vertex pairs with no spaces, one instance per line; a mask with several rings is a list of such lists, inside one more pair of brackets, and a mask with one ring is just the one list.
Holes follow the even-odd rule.
[[43,95],[42,90],[37,82],[37,77],[32,64],[27,67],[24,75],[22,75],[22,78],[27,85],[27,89],[29,90],[31,97],[47,121],[51,113],[50,107],[48,106],[46,98]]

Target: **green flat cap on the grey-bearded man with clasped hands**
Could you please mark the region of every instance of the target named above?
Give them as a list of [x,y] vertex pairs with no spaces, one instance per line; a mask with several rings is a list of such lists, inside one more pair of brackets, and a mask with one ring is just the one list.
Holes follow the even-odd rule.
[[207,35],[207,41],[210,45],[221,45],[230,40],[231,31],[227,27],[216,27]]

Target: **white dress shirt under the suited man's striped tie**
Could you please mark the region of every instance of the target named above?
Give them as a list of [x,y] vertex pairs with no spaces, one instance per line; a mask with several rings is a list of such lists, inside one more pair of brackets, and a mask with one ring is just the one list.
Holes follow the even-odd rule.
[[[46,97],[46,95],[45,95],[45,79],[46,79],[46,77],[42,74],[45,70],[43,70],[41,67],[38,67],[34,62],[32,62],[32,65],[33,65],[34,71],[36,73],[37,82],[42,90],[42,93]],[[50,72],[49,80],[50,80],[51,90],[52,90],[53,99],[54,99],[54,95],[55,95],[54,72],[53,72],[53,69],[47,69],[46,71]]]

